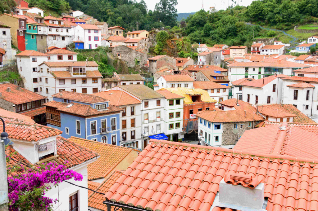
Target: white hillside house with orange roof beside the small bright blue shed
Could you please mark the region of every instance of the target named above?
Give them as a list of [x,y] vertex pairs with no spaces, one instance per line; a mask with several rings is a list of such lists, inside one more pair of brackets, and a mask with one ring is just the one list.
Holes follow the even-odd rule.
[[84,42],[84,49],[95,49],[101,46],[101,29],[94,24],[75,26],[75,39]]

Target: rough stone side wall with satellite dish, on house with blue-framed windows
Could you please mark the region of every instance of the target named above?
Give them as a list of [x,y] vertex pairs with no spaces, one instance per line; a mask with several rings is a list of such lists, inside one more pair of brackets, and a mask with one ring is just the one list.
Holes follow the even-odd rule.
[[[256,123],[251,122],[251,127],[248,127],[249,122],[230,122],[223,123],[222,132],[222,145],[232,145],[236,144],[238,140],[238,135],[241,137],[245,130],[253,129],[253,125]],[[238,124],[237,128],[234,128],[234,124]],[[242,125],[242,128],[241,128]]]

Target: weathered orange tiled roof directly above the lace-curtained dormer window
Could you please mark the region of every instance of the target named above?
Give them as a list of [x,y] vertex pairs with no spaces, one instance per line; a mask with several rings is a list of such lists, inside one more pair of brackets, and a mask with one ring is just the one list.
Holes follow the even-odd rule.
[[[37,142],[41,139],[62,134],[59,129],[40,125],[34,122],[26,122],[24,120],[3,118],[5,123],[5,131],[8,133],[10,139],[18,139],[29,142]],[[0,121],[1,131],[3,131],[3,124]]]

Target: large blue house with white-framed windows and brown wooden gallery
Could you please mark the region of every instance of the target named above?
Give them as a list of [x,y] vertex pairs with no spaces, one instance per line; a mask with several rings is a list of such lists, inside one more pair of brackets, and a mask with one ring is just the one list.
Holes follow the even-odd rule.
[[76,136],[97,142],[120,145],[121,108],[105,98],[62,91],[47,102],[47,125],[63,131],[64,138]]

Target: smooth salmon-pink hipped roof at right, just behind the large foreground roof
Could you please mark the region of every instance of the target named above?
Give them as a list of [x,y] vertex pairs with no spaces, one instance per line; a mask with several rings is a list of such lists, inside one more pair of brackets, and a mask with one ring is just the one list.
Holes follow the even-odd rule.
[[318,159],[318,135],[284,122],[280,125],[246,130],[234,149],[252,154],[289,155],[296,158]]

